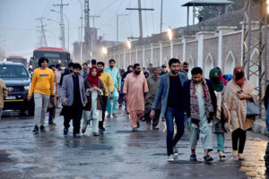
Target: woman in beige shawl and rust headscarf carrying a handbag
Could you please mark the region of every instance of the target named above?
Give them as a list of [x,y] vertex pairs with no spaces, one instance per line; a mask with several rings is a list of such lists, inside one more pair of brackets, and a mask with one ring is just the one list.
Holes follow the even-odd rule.
[[228,126],[232,139],[232,153],[235,158],[244,160],[243,151],[246,142],[246,133],[254,123],[255,117],[247,116],[247,101],[257,102],[256,92],[250,81],[246,78],[243,66],[236,66],[233,70],[233,79],[224,92],[224,102],[230,109]]

